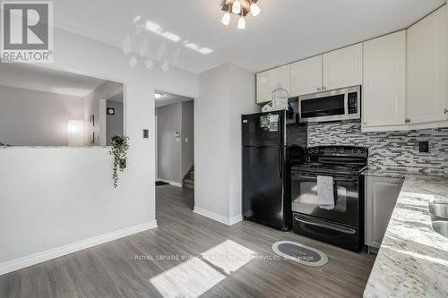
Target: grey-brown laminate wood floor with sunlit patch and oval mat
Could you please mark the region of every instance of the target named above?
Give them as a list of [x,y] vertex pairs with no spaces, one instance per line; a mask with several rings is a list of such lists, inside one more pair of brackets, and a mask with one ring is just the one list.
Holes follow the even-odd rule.
[[[0,297],[362,296],[374,256],[253,222],[225,226],[193,206],[193,191],[159,186],[158,228],[0,276]],[[272,260],[279,240],[315,247],[329,261]],[[193,258],[201,255],[209,258]]]

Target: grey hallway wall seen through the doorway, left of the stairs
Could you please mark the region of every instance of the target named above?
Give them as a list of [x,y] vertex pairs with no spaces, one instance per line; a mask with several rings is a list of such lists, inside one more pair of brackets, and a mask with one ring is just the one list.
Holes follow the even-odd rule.
[[157,116],[158,178],[182,183],[182,103],[158,107]]

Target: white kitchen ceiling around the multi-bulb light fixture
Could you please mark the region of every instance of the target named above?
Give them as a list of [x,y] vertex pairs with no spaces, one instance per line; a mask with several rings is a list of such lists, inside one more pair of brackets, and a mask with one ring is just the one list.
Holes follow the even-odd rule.
[[[246,19],[246,30],[237,30],[236,16],[228,27],[220,23],[221,0],[54,3],[57,27],[125,52],[142,52],[192,72],[227,62],[257,72],[407,28],[445,0],[259,0],[262,13]],[[143,29],[146,21],[158,33]],[[179,41],[160,36],[167,31]],[[190,42],[213,52],[202,55],[185,47]],[[160,67],[150,62],[153,66]]]

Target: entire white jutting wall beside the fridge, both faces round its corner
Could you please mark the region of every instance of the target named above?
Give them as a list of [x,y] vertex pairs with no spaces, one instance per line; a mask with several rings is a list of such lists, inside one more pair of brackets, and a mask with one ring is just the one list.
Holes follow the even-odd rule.
[[194,210],[231,224],[241,216],[241,115],[259,112],[255,74],[224,64],[199,79],[194,101]]

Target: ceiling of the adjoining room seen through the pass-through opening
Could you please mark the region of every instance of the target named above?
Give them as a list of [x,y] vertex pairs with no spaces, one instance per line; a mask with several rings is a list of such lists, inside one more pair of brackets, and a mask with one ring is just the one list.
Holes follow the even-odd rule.
[[85,97],[106,81],[33,64],[0,64],[0,85]]

